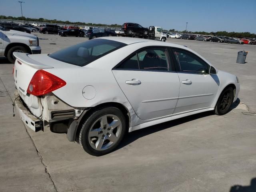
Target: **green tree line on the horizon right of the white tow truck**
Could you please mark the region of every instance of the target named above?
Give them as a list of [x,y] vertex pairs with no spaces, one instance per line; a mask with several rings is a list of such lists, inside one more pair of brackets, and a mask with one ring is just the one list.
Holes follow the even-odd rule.
[[[179,32],[175,29],[170,29],[169,32]],[[256,34],[250,32],[226,32],[226,31],[217,31],[217,32],[204,32],[204,31],[180,31],[182,33],[191,33],[191,34],[201,34],[201,35],[214,35],[214,36],[228,36],[228,37],[248,37],[256,38]]]

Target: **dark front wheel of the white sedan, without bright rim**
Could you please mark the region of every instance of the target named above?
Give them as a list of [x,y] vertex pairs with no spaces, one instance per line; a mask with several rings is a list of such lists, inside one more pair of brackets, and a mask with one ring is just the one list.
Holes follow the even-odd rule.
[[220,94],[220,97],[218,99],[218,102],[215,106],[215,114],[216,115],[224,115],[228,112],[230,109],[231,104],[234,100],[234,90],[231,87],[226,88],[222,93]]

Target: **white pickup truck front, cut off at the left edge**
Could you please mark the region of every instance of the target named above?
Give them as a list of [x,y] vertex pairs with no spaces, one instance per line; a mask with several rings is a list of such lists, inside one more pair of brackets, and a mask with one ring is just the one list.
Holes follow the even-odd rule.
[[11,63],[14,63],[13,52],[40,54],[38,37],[0,26],[0,56],[5,56]]

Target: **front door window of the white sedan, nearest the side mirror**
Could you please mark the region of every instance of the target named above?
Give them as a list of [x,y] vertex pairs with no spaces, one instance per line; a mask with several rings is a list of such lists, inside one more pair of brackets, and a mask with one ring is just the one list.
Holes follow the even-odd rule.
[[199,74],[205,74],[209,72],[210,66],[195,54],[185,50],[176,49],[173,49],[173,52],[182,72],[192,72]]

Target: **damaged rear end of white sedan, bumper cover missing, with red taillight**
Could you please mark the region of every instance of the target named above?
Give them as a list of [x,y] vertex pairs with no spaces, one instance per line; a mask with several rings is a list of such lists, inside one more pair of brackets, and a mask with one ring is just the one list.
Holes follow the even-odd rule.
[[52,94],[66,85],[64,80],[47,72],[47,69],[54,68],[53,59],[52,66],[48,66],[34,60],[33,55],[16,52],[14,56],[17,58],[13,69],[14,104],[24,124],[37,132],[49,123],[61,122],[64,125],[65,121],[80,115],[78,110]]

